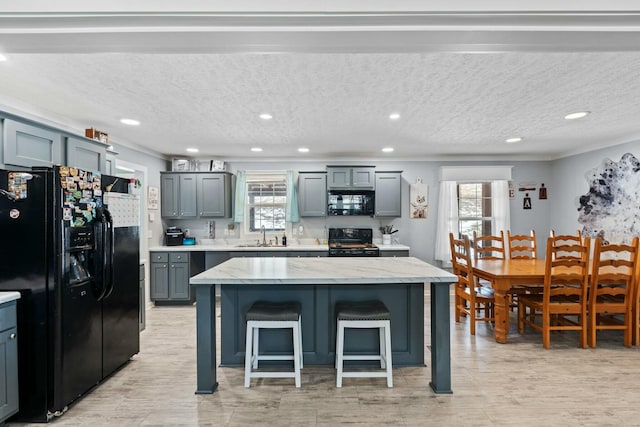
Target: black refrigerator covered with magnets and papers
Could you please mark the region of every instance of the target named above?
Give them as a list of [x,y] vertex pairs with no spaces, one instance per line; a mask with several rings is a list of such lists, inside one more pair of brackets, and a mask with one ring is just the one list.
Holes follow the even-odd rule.
[[19,291],[20,409],[47,422],[139,352],[138,196],[59,166],[0,170],[0,290]]

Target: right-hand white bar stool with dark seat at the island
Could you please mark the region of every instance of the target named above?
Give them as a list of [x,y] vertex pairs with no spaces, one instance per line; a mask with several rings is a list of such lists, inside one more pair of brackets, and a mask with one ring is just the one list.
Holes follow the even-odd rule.
[[[391,313],[381,301],[339,302],[336,304],[336,387],[342,387],[345,377],[386,377],[387,387],[393,387],[391,357]],[[378,354],[344,354],[345,328],[379,329]],[[345,360],[379,360],[383,371],[344,372]]]

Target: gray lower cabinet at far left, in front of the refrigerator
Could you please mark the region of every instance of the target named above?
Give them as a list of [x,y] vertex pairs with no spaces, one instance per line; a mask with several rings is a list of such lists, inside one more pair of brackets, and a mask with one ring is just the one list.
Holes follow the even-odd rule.
[[0,424],[18,412],[18,403],[18,328],[11,301],[0,305]]

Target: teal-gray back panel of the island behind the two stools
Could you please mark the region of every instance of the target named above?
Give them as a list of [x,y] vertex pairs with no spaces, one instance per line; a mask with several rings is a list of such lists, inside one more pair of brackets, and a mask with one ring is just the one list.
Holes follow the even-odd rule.
[[[299,301],[302,304],[302,342],[306,364],[332,365],[335,358],[335,303],[382,300],[391,311],[393,363],[424,365],[424,287],[419,284],[371,285],[223,285],[221,292],[221,363],[244,363],[244,313],[258,300]],[[346,351],[378,350],[376,331],[347,331]],[[260,348],[290,351],[291,333],[261,332]]]

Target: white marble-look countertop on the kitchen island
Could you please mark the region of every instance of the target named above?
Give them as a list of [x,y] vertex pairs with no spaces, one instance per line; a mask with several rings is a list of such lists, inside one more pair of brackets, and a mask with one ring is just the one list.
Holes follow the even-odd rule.
[[457,282],[456,275],[418,258],[232,258],[190,280],[206,284],[376,284]]

